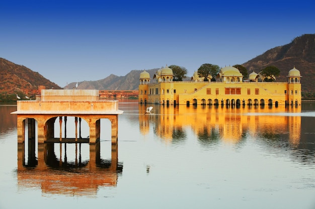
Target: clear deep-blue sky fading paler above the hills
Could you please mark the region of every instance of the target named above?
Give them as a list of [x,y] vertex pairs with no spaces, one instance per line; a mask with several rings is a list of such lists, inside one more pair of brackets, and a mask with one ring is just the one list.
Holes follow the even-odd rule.
[[192,76],[314,34],[314,11],[314,0],[2,0],[0,57],[61,87],[165,65]]

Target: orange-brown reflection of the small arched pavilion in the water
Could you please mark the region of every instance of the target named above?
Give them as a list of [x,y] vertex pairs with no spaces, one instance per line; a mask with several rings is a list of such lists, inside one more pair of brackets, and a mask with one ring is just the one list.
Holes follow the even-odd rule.
[[[116,186],[123,165],[118,162],[118,143],[112,144],[111,159],[101,158],[101,143],[18,144],[18,184],[40,187],[45,194],[96,195],[100,186]],[[82,160],[82,146],[89,146],[89,159]],[[26,148],[26,149],[25,149]],[[27,157],[25,156],[27,152]],[[75,159],[68,158],[68,155]]]

